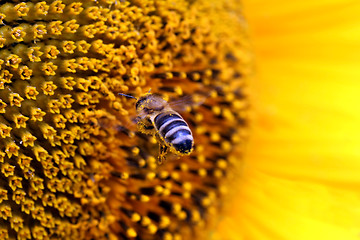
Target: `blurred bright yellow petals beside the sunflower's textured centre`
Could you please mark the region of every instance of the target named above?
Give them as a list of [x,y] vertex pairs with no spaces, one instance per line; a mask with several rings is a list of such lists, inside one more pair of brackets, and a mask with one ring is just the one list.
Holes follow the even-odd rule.
[[244,1],[253,125],[214,239],[359,239],[359,11],[350,0]]

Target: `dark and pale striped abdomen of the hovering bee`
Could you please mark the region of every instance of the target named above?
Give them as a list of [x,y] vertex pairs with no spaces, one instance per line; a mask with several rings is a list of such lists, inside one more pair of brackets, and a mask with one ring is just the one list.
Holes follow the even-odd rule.
[[181,154],[188,154],[193,148],[193,136],[184,119],[174,111],[163,112],[154,119],[154,124],[164,140]]

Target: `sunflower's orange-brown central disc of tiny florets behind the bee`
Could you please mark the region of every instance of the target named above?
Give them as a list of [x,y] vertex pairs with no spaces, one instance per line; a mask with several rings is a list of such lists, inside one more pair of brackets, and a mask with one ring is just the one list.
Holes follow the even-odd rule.
[[[240,10],[2,1],[0,238],[206,239],[246,139]],[[148,92],[188,123],[190,155],[157,162],[162,140],[138,131],[134,100],[118,94]]]

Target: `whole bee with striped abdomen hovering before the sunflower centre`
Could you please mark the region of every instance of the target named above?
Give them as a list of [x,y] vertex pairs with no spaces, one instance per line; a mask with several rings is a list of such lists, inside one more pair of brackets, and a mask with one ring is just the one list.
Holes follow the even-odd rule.
[[[126,97],[135,98],[119,93]],[[147,93],[135,98],[138,129],[144,134],[155,135],[160,143],[159,163],[170,150],[176,155],[188,155],[194,148],[194,138],[189,125],[161,96]]]

